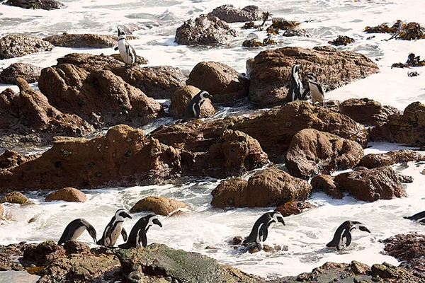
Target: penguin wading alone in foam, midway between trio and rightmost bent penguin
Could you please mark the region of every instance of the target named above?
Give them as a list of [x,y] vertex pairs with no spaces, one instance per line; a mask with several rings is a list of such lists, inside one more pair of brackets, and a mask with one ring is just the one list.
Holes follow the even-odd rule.
[[286,225],[280,212],[267,212],[261,215],[261,217],[255,221],[251,233],[246,237],[243,243],[256,243],[259,250],[262,250],[263,242],[266,241],[268,236],[268,227],[277,222]]

